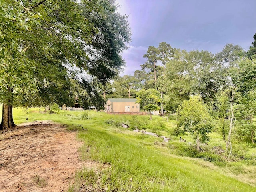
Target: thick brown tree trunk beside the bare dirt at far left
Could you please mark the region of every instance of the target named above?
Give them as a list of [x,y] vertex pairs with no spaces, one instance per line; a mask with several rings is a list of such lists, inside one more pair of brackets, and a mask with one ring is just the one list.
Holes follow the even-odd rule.
[[13,121],[13,116],[12,116],[12,105],[10,104],[3,104],[2,108],[2,121],[1,121],[1,127],[0,130],[9,130],[14,128],[16,125],[14,124]]

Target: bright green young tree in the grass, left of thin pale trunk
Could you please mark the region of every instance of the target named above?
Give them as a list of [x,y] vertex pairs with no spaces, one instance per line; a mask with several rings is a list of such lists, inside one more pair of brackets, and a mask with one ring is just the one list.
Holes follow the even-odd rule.
[[199,96],[191,96],[178,108],[178,126],[196,138],[196,147],[200,151],[200,140],[209,140],[208,133],[213,126],[210,114]]

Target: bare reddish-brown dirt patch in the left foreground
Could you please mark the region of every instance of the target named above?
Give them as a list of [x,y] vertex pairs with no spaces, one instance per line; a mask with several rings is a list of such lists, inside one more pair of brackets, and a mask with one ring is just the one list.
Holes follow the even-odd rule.
[[62,192],[90,162],[79,160],[76,132],[50,121],[0,134],[0,192]]

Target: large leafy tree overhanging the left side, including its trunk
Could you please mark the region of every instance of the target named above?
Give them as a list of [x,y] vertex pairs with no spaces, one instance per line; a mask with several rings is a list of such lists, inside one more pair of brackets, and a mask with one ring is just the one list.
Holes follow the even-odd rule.
[[[34,91],[41,99],[44,90],[44,94],[61,90],[70,78],[70,67],[104,83],[124,66],[119,54],[130,41],[130,28],[126,16],[116,12],[114,1],[25,0],[1,1],[1,5],[6,6],[0,15],[1,32],[10,37],[2,38],[2,45],[4,50],[12,47],[11,42],[16,46],[10,48],[10,56],[7,51],[2,54],[6,68],[0,73],[0,86],[5,88],[0,100],[8,109],[3,112],[2,129],[14,126],[12,105],[23,105],[16,95]],[[54,74],[61,78],[53,80]],[[8,80],[10,76],[14,81]]]

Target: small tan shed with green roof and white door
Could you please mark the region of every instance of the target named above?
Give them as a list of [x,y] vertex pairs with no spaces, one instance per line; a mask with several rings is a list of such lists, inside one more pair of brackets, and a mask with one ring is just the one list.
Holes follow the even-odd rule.
[[137,99],[108,99],[105,112],[139,112],[140,104]]

